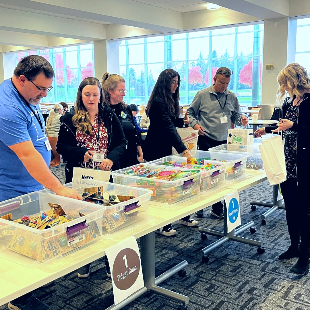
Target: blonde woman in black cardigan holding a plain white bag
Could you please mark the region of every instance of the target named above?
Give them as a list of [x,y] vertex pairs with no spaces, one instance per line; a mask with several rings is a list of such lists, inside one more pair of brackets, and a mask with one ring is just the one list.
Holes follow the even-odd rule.
[[281,183],[285,202],[286,222],[290,234],[288,250],[279,255],[279,260],[298,257],[290,272],[303,276],[309,272],[310,256],[310,205],[307,201],[310,174],[308,110],[310,106],[310,79],[305,68],[297,63],[287,65],[278,75],[278,98],[290,95],[283,105],[283,118],[277,126],[260,128],[258,136],[266,132],[283,131],[286,181]]

